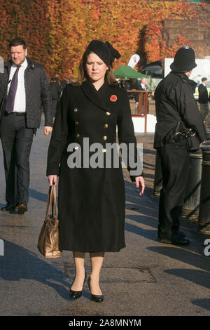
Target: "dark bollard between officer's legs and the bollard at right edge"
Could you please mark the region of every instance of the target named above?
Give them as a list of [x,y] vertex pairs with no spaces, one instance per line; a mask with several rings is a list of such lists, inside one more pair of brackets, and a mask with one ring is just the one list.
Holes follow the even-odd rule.
[[181,218],[195,220],[199,215],[200,185],[202,177],[202,150],[190,152],[190,169],[186,187],[185,202],[181,209]]

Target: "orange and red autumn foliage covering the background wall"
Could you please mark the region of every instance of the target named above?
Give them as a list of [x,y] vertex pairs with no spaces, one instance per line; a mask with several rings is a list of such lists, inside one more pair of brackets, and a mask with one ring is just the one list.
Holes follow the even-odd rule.
[[[22,37],[29,56],[49,77],[73,78],[85,47],[92,39],[108,40],[121,53],[116,66],[127,65],[134,53],[148,62],[172,57],[188,44],[181,34],[167,45],[164,20],[197,20],[209,4],[141,0],[0,0],[1,56],[8,58],[8,41]],[[209,25],[207,20],[200,22]]]

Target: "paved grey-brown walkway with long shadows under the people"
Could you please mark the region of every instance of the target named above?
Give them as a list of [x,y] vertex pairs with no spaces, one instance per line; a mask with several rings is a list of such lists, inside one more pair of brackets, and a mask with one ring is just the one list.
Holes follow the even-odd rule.
[[[157,240],[158,197],[153,196],[155,150],[153,134],[141,134],[144,143],[146,192],[139,197],[133,183],[126,185],[127,247],[120,253],[106,253],[101,275],[105,295],[102,304],[84,294],[70,301],[73,280],[71,252],[62,258],[46,259],[36,249],[45,216],[48,180],[45,177],[46,152],[50,136],[43,136],[43,123],[31,150],[29,211],[25,215],[0,213],[0,315],[210,315],[210,260],[204,256],[204,239],[197,223],[182,222],[190,238],[187,247],[161,244]],[[0,202],[4,204],[5,182],[0,151]],[[1,205],[0,205],[1,206]],[[86,255],[87,274],[90,258]]]

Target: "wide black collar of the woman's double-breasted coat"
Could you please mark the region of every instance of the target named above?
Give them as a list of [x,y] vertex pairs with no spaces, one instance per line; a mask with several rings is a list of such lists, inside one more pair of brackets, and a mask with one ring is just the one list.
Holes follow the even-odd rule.
[[[102,87],[97,91],[94,88],[94,85],[89,79],[83,82],[81,89],[85,96],[92,102],[94,105],[97,105],[100,109],[104,111],[111,111],[109,103],[106,103],[106,98],[109,100],[110,86],[108,81],[104,81]],[[104,96],[104,97],[102,97]]]

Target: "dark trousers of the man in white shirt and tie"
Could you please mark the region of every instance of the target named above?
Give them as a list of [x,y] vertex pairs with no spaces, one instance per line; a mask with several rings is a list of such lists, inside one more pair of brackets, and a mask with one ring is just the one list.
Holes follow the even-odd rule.
[[29,155],[34,129],[26,127],[25,115],[5,114],[1,120],[1,144],[6,178],[6,202],[29,201]]

